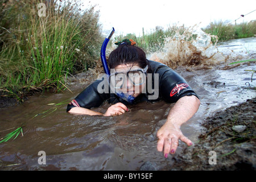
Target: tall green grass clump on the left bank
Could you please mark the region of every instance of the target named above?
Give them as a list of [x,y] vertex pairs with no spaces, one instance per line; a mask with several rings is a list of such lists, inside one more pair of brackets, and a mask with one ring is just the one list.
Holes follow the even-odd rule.
[[20,101],[32,90],[65,88],[65,77],[93,66],[104,39],[94,7],[51,1],[39,16],[39,3],[0,0],[0,93]]

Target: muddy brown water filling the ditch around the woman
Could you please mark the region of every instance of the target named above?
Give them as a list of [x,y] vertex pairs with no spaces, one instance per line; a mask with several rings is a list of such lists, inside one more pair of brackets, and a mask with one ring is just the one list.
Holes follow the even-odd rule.
[[[254,48],[253,48],[254,47]],[[198,142],[201,123],[214,111],[238,105],[256,96],[251,82],[255,61],[228,65],[233,61],[255,59],[256,38],[221,43],[218,50],[226,63],[204,67],[181,66],[176,69],[187,80],[201,100],[199,111],[181,126],[183,134]],[[156,133],[166,121],[174,104],[160,101],[129,106],[130,111],[117,117],[72,115],[66,113],[67,103],[77,96],[92,79],[69,85],[73,93],[44,93],[30,97],[22,105],[0,109],[0,137],[12,128],[23,127],[24,137],[0,144],[1,170],[138,170],[144,162],[156,169],[171,166],[156,150]],[[246,83],[247,82],[247,83]],[[249,84],[250,86],[249,86]],[[56,105],[65,102],[62,105]],[[106,111],[104,104],[97,111]],[[12,130],[8,130],[12,129]],[[5,131],[6,130],[6,131]],[[180,142],[176,153],[187,146]],[[39,151],[46,152],[46,164],[39,164]]]

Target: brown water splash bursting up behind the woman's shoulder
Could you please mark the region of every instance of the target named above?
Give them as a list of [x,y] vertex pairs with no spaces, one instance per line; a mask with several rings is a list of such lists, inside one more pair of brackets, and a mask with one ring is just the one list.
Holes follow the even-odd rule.
[[178,28],[174,36],[167,37],[163,51],[151,53],[148,59],[174,69],[179,65],[214,65],[226,61],[216,44],[212,43],[217,36],[205,33],[199,26],[185,28],[183,34],[180,32]]

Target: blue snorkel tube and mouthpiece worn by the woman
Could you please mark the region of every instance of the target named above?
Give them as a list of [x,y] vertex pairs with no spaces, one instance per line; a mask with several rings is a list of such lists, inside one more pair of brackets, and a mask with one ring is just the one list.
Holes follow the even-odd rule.
[[[115,32],[115,30],[113,28],[101,46],[101,62],[102,62],[103,68],[104,68],[104,72],[108,76],[110,76],[110,71],[109,71],[108,63],[106,62],[106,46],[108,45],[109,40],[112,37],[112,35],[114,34],[114,32]],[[129,102],[130,104],[134,104],[135,97],[133,97],[127,93],[117,92],[116,90],[114,90],[114,92],[119,98],[122,98],[123,100]]]

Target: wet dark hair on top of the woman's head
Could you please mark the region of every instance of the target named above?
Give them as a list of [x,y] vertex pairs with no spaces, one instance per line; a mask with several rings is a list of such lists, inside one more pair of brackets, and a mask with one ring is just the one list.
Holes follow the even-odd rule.
[[141,68],[145,68],[148,65],[150,70],[150,65],[143,49],[137,46],[127,45],[126,43],[120,44],[109,55],[110,69],[114,69],[121,64],[138,64]]

